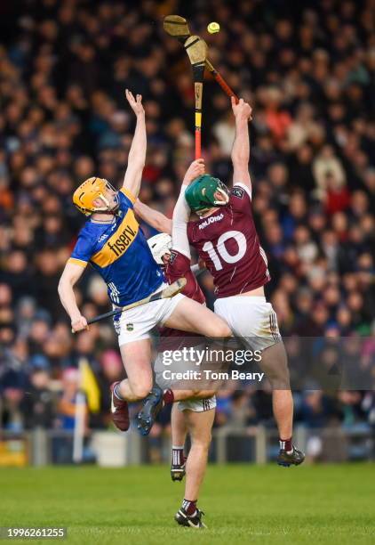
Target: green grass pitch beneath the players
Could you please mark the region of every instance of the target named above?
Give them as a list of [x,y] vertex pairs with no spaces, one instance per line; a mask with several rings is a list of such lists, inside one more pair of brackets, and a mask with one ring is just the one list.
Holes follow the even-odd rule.
[[165,467],[1,469],[0,525],[67,526],[63,542],[80,545],[370,544],[374,492],[373,464],[211,466],[199,500],[209,528],[195,531],[172,519],[183,485]]

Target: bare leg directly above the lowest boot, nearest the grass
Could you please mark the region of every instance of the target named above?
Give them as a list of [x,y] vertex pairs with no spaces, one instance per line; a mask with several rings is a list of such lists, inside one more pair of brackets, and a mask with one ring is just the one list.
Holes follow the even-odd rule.
[[211,443],[211,427],[215,410],[204,412],[184,411],[187,429],[191,437],[191,448],[187,456],[185,499],[198,499],[207,466],[208,450]]

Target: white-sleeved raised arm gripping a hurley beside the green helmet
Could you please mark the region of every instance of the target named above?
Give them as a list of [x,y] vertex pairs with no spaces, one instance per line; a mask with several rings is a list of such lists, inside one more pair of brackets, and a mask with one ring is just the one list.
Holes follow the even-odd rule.
[[187,239],[187,222],[190,218],[190,208],[187,205],[185,199],[185,191],[187,185],[193,182],[195,178],[204,174],[204,160],[196,159],[187,168],[187,172],[184,176],[179,199],[177,199],[176,206],[173,210],[172,221],[172,248],[179,251],[180,254],[191,258],[190,245]]

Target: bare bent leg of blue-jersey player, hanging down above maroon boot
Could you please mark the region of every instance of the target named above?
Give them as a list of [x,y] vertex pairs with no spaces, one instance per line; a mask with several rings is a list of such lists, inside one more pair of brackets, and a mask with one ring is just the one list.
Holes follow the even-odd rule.
[[134,341],[120,346],[120,351],[128,378],[121,381],[119,393],[128,402],[143,399],[153,385],[150,341]]

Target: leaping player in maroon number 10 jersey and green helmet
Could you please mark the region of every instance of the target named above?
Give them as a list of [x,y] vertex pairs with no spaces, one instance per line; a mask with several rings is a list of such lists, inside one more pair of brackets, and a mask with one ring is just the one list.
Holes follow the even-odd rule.
[[[259,363],[273,386],[273,409],[280,437],[278,463],[289,467],[305,458],[292,443],[293,400],[289,370],[275,312],[263,286],[270,280],[251,211],[249,119],[251,106],[232,98],[235,116],[231,191],[218,178],[201,175],[182,184],[173,213],[173,248],[190,257],[189,243],[210,271],[217,299],[236,337],[262,352]],[[191,212],[195,219],[190,219]],[[190,219],[190,221],[189,221]]]

